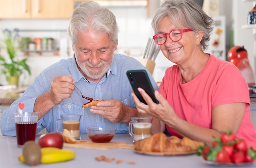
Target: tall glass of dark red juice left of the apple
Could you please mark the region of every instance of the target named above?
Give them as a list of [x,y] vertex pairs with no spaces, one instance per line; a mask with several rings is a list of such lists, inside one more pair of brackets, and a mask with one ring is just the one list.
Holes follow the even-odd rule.
[[36,139],[36,124],[38,120],[38,113],[23,112],[14,113],[17,145],[22,147],[23,144],[30,140]]

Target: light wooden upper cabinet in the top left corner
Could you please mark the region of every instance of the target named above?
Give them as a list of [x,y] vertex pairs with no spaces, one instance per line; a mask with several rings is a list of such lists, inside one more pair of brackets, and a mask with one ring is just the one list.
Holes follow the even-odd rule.
[[0,0],[0,19],[69,19],[74,0]]

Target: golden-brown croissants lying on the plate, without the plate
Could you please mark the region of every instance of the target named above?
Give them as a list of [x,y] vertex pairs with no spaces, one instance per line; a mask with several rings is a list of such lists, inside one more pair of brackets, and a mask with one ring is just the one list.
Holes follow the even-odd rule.
[[151,137],[136,141],[134,146],[135,150],[143,152],[190,152],[195,151],[201,144],[203,143],[196,143],[187,137],[180,140],[176,136],[168,138],[164,133],[156,133]]

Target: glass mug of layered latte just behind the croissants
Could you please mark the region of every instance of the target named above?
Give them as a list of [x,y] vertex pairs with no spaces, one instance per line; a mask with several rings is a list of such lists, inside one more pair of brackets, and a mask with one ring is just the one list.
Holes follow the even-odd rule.
[[132,117],[129,122],[129,134],[133,143],[146,137],[151,137],[153,117]]

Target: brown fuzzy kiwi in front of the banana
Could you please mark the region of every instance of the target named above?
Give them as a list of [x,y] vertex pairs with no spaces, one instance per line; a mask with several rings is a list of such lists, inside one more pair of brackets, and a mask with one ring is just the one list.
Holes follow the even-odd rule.
[[35,141],[27,141],[23,145],[22,155],[26,164],[35,166],[42,158],[41,147]]

